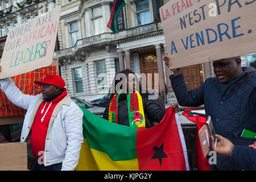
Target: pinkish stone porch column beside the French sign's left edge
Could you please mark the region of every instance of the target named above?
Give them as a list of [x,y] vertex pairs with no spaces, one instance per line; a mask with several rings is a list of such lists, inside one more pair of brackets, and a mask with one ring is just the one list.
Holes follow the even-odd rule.
[[156,49],[156,57],[158,59],[159,92],[162,93],[162,91],[164,91],[164,93],[165,93],[161,46],[160,45],[155,45],[155,49]]

